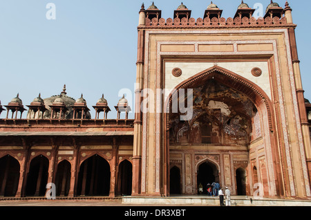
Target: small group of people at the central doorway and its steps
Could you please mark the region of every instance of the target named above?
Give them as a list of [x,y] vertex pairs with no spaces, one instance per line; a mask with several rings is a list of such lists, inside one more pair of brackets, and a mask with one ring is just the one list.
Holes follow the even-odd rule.
[[[199,193],[203,193],[203,186],[200,183],[199,184]],[[207,183],[207,195],[208,196],[219,196],[220,200],[220,206],[223,206],[226,204],[226,206],[231,205],[231,194],[228,187],[225,187],[225,194],[223,193],[223,190],[220,188],[220,184],[218,182],[216,183]],[[225,204],[224,204],[225,199]]]

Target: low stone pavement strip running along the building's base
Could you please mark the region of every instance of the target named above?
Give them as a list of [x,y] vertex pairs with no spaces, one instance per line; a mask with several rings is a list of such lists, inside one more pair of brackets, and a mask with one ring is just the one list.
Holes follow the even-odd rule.
[[[311,206],[311,201],[299,199],[252,199],[247,196],[232,196],[232,206]],[[79,197],[57,199],[1,198],[4,206],[219,206],[219,199],[211,196],[170,196],[170,197]]]

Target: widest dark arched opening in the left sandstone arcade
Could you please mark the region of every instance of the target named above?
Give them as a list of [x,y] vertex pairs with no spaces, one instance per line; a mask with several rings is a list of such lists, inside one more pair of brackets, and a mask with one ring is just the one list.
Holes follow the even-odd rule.
[[78,196],[109,196],[110,165],[95,154],[80,166],[77,184]]

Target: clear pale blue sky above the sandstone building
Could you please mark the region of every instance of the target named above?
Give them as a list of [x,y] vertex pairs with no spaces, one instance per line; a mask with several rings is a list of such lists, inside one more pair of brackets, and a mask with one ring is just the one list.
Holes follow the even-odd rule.
[[[156,0],[162,17],[173,17],[183,3],[191,17],[202,17],[210,1]],[[285,6],[285,0],[274,0]],[[106,0],[1,0],[0,1],[0,100],[8,104],[17,93],[27,105],[41,93],[57,95],[66,84],[67,95],[75,99],[83,93],[92,118],[92,105],[102,93],[111,107],[121,98],[120,89],[134,91],[137,59],[138,12],[144,2]],[[55,3],[56,19],[46,19],[46,5]],[[233,17],[241,0],[214,0],[223,17]],[[270,0],[245,0],[250,7]],[[310,15],[311,1],[289,0],[296,28],[305,98],[311,100]],[[133,109],[133,104],[132,104]],[[3,118],[6,113],[1,114]],[[24,113],[24,117],[26,113]],[[23,118],[24,118],[23,117]],[[130,115],[133,118],[133,114]]]

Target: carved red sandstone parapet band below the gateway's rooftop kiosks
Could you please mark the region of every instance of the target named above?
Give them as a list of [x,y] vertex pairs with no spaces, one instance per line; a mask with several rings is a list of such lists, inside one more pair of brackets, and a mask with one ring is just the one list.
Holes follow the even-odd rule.
[[243,17],[242,19],[240,17],[236,17],[233,19],[232,17],[229,17],[225,19],[224,17],[221,17],[220,19],[214,17],[212,19],[209,18],[198,18],[194,19],[191,17],[190,19],[182,18],[181,20],[176,17],[175,19],[168,18],[165,20],[164,18],[157,19],[156,17],[153,19],[146,18],[146,24],[144,27],[147,28],[180,28],[180,27],[186,27],[186,28],[227,28],[227,27],[253,27],[253,26],[289,26],[292,24],[288,24],[285,17],[266,17],[263,19],[262,17],[259,17],[256,19],[255,17],[251,17],[250,19],[248,17]]

